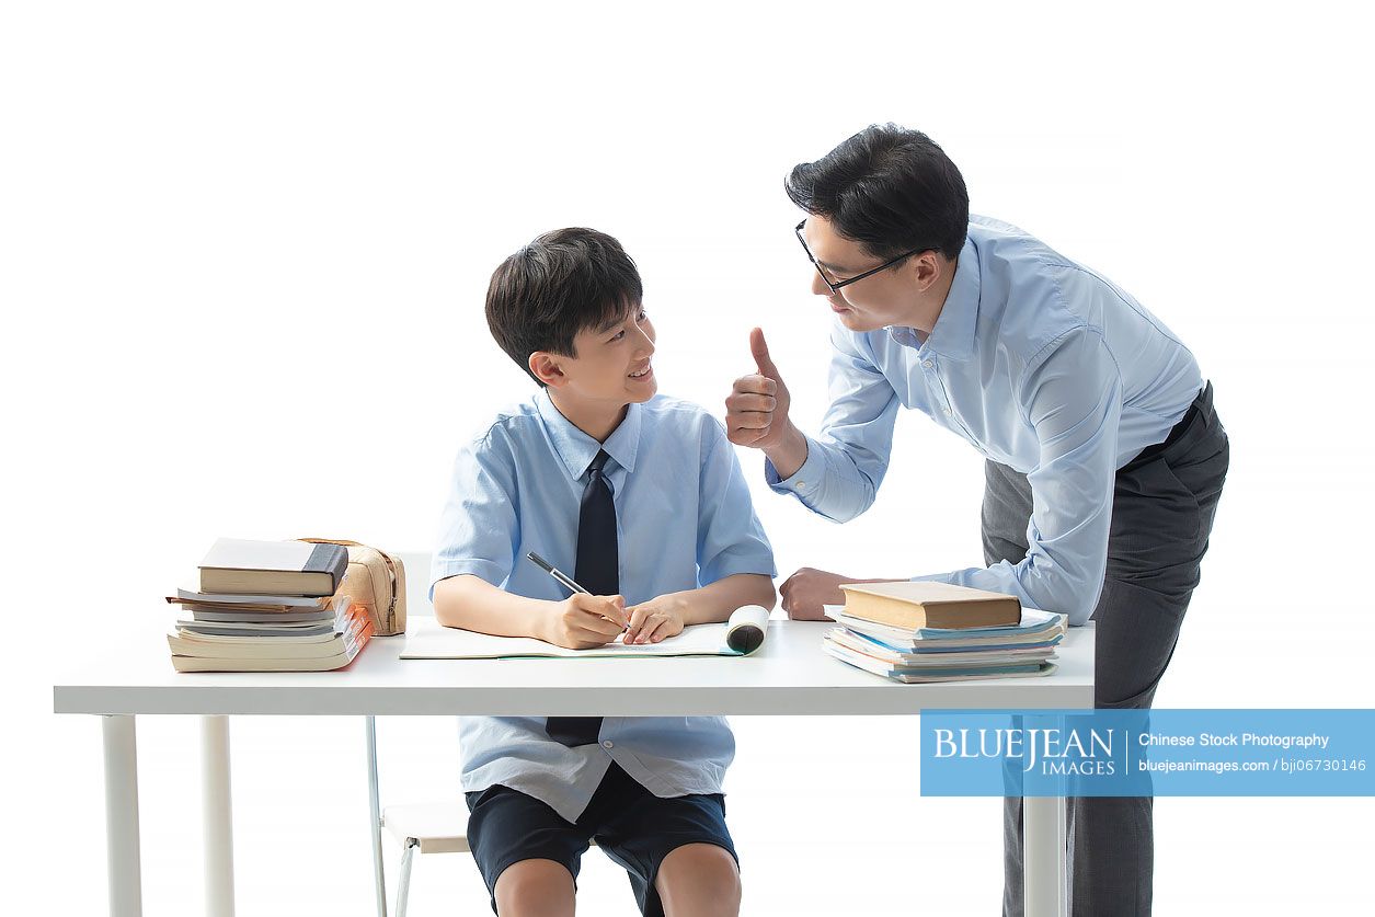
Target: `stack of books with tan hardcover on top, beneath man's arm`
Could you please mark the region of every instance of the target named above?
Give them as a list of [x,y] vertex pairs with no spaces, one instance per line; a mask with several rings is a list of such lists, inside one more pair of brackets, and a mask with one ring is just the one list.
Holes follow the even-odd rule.
[[946,583],[840,587],[840,627],[824,638],[836,659],[898,682],[1049,675],[1066,617],[1023,609],[1013,595]]

